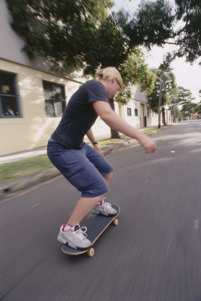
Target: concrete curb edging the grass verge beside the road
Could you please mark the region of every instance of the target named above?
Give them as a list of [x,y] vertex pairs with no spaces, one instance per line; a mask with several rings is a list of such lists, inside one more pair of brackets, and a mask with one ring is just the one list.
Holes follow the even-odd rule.
[[[151,132],[147,134],[147,136],[152,135],[153,133],[157,133],[159,131]],[[137,142],[136,139],[131,139],[121,144],[117,144],[115,146],[109,147],[103,151],[103,155],[107,155],[112,151],[115,151],[121,147],[127,146],[131,143]],[[49,169],[43,170],[41,172],[36,172],[32,175],[28,175],[24,178],[20,178],[17,180],[9,181],[0,185],[0,198],[4,196],[10,196],[14,192],[27,188],[29,186],[35,185],[37,183],[43,182],[50,178],[53,178],[57,175],[61,174],[56,167],[51,167]]]

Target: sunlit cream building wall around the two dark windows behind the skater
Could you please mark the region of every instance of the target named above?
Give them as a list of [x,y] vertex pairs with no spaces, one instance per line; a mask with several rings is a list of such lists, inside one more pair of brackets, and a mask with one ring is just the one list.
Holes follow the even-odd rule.
[[[46,116],[43,80],[64,85],[66,103],[82,82],[4,60],[0,71],[16,75],[21,112],[19,117],[0,118],[0,155],[45,146],[61,117]],[[106,135],[110,128],[98,118],[93,131]]]

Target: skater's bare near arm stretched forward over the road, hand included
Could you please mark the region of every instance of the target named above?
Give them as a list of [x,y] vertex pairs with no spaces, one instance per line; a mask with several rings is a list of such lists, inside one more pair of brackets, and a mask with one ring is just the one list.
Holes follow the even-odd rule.
[[155,142],[142,132],[130,126],[119,117],[111,108],[110,104],[104,101],[94,101],[93,108],[96,114],[112,129],[123,133],[131,138],[137,139],[147,153],[153,153],[156,149]]

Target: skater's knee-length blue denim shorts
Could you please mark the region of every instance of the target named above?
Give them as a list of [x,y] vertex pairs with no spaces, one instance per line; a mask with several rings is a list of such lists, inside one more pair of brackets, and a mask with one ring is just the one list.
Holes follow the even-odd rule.
[[82,192],[82,197],[98,197],[109,191],[103,178],[113,166],[93,147],[83,142],[80,150],[58,142],[48,142],[47,154],[52,164]]

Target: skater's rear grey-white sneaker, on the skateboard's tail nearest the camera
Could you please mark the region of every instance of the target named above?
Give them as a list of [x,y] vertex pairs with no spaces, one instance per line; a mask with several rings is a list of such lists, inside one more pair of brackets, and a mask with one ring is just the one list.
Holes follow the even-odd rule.
[[[77,250],[87,250],[91,247],[91,242],[86,234],[86,227],[80,228],[77,224],[68,231],[63,231],[65,225],[62,225],[57,240],[61,244],[68,244],[69,247]],[[84,230],[84,231],[83,231]]]

